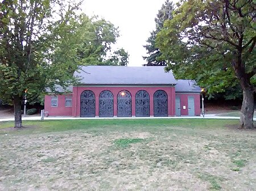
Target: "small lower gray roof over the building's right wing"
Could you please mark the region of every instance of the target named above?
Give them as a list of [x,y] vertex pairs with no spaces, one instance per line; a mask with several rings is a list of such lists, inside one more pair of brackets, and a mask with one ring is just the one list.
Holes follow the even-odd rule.
[[196,85],[195,80],[178,79],[175,92],[201,92],[201,88]]

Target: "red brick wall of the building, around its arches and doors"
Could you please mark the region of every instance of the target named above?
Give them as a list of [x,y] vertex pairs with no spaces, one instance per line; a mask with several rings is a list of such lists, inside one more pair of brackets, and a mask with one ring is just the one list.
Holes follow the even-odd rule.
[[[98,97],[101,91],[109,90],[114,96],[114,116],[117,116],[117,95],[120,91],[126,90],[131,94],[132,116],[135,116],[135,94],[139,90],[145,90],[150,95],[150,116],[154,116],[154,93],[158,90],[166,91],[168,95],[168,115],[175,116],[175,95],[180,96],[181,115],[188,115],[188,96],[195,97],[195,115],[200,116],[200,94],[175,94],[174,87],[73,87],[73,94],[58,95],[58,107],[51,107],[51,95],[45,96],[44,110],[49,116],[74,116],[80,117],[80,96],[83,91],[93,91],[96,97],[96,117],[98,116]],[[65,107],[65,96],[72,97],[72,107]],[[185,109],[183,109],[185,105]]]

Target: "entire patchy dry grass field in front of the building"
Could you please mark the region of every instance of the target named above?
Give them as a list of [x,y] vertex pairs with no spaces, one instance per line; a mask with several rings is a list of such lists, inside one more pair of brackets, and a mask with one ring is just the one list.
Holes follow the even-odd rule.
[[0,190],[254,190],[256,131],[238,120],[0,123]]

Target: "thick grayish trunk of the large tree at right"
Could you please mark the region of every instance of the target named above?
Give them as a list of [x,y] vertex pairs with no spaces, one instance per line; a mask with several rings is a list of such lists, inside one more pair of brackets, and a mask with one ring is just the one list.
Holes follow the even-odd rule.
[[251,88],[243,90],[243,103],[241,108],[240,124],[241,128],[252,129],[254,113],[254,92]]

